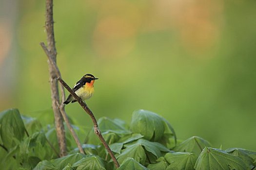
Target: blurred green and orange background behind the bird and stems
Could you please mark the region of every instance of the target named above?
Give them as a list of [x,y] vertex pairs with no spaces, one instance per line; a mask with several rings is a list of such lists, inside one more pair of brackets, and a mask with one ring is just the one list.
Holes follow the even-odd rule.
[[[51,114],[44,8],[0,2],[1,111]],[[62,78],[99,78],[87,102],[97,118],[146,109],[180,139],[256,150],[255,0],[55,0],[54,20]],[[92,126],[77,103],[66,111]]]

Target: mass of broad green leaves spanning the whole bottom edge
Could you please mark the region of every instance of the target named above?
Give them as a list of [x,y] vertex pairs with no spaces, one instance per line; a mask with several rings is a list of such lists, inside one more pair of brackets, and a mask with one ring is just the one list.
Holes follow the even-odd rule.
[[[119,119],[100,118],[99,128],[120,163],[117,170],[252,170],[256,152],[241,148],[211,148],[198,136],[177,142],[171,124],[156,113],[138,110],[128,126]],[[93,129],[75,126],[85,155],[66,130],[69,154],[60,157],[53,124],[42,126],[17,109],[0,113],[0,169],[4,170],[116,170]],[[25,135],[27,134],[27,135]],[[82,140],[81,140],[82,141]],[[177,144],[178,143],[178,144]]]

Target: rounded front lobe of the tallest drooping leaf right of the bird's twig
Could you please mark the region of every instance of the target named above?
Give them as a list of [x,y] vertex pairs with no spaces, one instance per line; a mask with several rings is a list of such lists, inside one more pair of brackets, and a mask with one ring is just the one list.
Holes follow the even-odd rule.
[[131,121],[133,133],[139,133],[147,140],[158,141],[164,134],[163,119],[147,110],[133,112]]

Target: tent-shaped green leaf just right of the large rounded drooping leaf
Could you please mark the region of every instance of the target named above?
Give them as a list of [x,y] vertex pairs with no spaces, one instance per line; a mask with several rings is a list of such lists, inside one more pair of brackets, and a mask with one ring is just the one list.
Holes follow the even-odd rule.
[[173,150],[175,152],[195,153],[197,156],[202,152],[204,147],[211,147],[211,144],[198,136],[192,136],[177,145]]

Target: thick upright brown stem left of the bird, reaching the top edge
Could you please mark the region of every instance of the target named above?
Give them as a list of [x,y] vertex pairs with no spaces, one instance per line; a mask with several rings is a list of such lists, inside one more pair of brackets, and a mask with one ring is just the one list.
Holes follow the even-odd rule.
[[[56,46],[54,38],[54,28],[53,28],[53,0],[46,0],[46,12],[45,12],[45,30],[47,34],[47,53],[49,58],[51,58],[56,63]],[[56,81],[56,71],[52,64],[48,61],[49,75],[50,75],[50,85],[51,85],[51,98],[52,98],[52,107],[54,111],[55,127],[59,142],[59,151],[60,156],[64,156],[67,153],[66,139],[65,139],[65,130],[62,120],[59,107],[56,105],[59,102],[59,89],[58,81]]]

